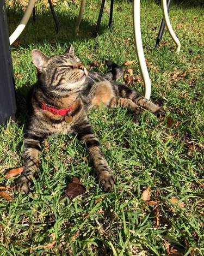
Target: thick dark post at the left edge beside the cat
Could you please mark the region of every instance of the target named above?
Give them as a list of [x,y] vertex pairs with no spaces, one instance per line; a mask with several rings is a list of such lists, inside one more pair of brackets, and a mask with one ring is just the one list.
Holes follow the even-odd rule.
[[15,84],[5,0],[0,1],[0,126],[16,112]]

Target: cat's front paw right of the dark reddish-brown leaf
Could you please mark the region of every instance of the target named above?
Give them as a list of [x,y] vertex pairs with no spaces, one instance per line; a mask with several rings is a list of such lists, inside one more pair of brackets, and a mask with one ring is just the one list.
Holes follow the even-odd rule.
[[98,181],[99,181],[100,185],[103,187],[103,190],[105,192],[113,192],[115,178],[114,178],[114,175],[112,172],[103,171],[98,176]]

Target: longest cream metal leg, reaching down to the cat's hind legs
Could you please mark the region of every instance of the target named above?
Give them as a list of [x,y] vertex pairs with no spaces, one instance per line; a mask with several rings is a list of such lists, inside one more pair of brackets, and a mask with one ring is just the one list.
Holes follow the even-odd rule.
[[145,56],[143,52],[143,43],[141,41],[140,29],[140,0],[133,0],[133,27],[134,27],[134,40],[138,56],[138,63],[140,67],[141,76],[144,81],[144,97],[150,99],[151,94],[151,81],[147,70]]

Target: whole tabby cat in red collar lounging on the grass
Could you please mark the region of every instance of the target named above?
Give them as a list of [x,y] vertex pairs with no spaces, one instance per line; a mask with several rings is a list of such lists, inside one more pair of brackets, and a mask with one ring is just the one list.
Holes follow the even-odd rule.
[[126,85],[114,81],[122,74],[122,69],[114,63],[109,62],[112,71],[105,75],[94,71],[88,73],[75,56],[72,45],[64,55],[53,57],[33,50],[32,59],[38,70],[38,82],[33,90],[34,114],[24,140],[24,171],[17,180],[18,192],[28,192],[33,178],[38,176],[41,142],[54,134],[72,132],[86,145],[104,191],[113,191],[114,174],[92,132],[87,111],[101,105],[109,108],[121,106],[133,115],[140,113],[140,106],[158,115],[164,114],[164,110]]

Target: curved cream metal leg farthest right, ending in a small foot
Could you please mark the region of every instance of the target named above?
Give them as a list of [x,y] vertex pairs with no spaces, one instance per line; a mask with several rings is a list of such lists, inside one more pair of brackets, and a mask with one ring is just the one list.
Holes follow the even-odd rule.
[[167,5],[166,5],[166,0],[162,0],[162,12],[163,12],[163,17],[164,17],[164,22],[165,22],[166,28],[168,29],[169,34],[171,35],[171,38],[174,40],[174,43],[177,45],[176,52],[178,53],[181,49],[181,43],[180,43],[180,40],[178,40],[176,34],[174,33],[174,31],[171,27],[171,23],[169,21]]

